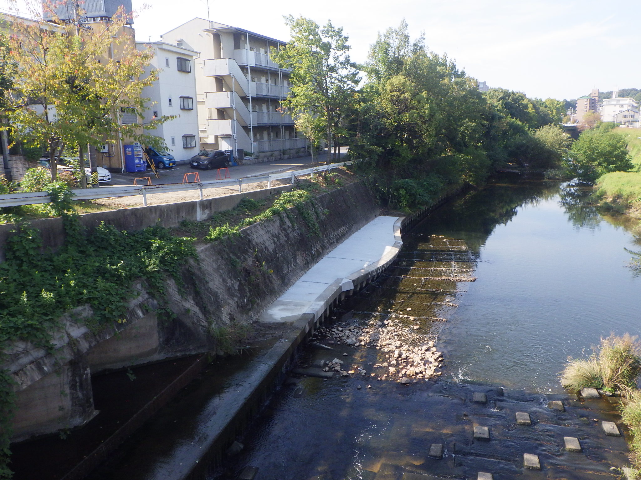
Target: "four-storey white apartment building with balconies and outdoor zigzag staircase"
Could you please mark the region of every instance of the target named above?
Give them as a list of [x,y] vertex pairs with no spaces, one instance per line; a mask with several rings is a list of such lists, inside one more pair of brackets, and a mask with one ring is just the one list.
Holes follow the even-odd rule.
[[254,159],[305,154],[306,139],[297,136],[292,117],[279,111],[289,92],[289,70],[269,56],[285,42],[200,18],[162,39],[201,52],[194,70],[202,148],[245,150]]

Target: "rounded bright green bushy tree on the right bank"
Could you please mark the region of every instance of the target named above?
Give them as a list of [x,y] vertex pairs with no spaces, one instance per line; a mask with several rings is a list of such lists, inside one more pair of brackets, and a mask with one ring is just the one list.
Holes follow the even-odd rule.
[[587,130],[572,143],[567,167],[579,179],[594,183],[608,172],[633,167],[625,138],[601,129]]

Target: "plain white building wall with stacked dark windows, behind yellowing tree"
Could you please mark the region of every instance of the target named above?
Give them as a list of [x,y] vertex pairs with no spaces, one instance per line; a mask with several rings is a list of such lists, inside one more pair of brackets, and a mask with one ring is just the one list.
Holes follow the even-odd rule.
[[165,140],[167,152],[178,163],[185,163],[199,152],[198,113],[196,108],[196,72],[194,58],[198,52],[165,42],[136,42],[138,50],[151,47],[154,58],[150,70],[158,69],[158,81],[146,87],[142,95],[154,104],[144,113],[142,122],[154,116],[176,115],[148,133]]

